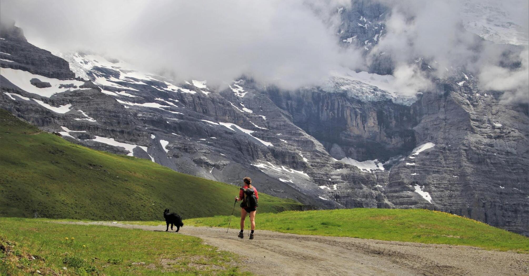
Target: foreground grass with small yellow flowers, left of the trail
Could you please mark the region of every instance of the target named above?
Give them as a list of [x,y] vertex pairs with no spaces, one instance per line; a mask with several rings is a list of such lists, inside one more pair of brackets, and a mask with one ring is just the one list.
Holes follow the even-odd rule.
[[0,275],[239,275],[239,258],[186,235],[0,218]]

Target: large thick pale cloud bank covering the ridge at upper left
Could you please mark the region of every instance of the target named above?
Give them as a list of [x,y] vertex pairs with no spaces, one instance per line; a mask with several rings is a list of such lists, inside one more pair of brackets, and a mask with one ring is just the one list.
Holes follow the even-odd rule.
[[177,80],[220,84],[244,74],[286,88],[361,62],[316,15],[323,7],[297,0],[2,1],[3,15],[48,49],[106,53]]

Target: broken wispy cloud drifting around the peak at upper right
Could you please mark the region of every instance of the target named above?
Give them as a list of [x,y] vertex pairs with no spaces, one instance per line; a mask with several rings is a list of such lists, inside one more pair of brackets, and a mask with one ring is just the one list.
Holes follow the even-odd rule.
[[[432,68],[431,74],[434,77],[461,77],[459,71],[463,71],[477,76],[482,89],[505,91],[504,100],[529,102],[527,45],[510,47],[493,44],[464,29],[462,19],[468,14],[463,15],[459,11],[469,7],[478,9],[476,5],[481,4],[479,1],[379,2],[391,7],[391,15],[386,23],[387,33],[380,39],[372,54],[386,52],[391,55],[396,65],[394,75],[405,87],[402,89],[403,93],[410,94],[415,89],[430,87],[428,79],[413,66],[424,60]],[[507,2],[514,5],[520,1]],[[501,10],[496,11],[494,8],[505,6],[509,5],[496,3],[489,6],[491,11],[487,12],[499,13]],[[527,22],[527,5],[517,6],[518,11],[511,8],[507,12],[523,25]],[[519,29],[527,31],[524,27]],[[526,36],[525,33],[521,37]],[[517,54],[513,55],[513,52]],[[520,66],[504,66],[505,63],[519,63]]]

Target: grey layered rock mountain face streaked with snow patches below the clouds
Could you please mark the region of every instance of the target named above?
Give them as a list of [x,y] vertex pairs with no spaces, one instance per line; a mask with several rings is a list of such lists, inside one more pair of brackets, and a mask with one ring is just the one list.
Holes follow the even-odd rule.
[[[388,12],[368,1],[339,10],[339,39],[369,52]],[[385,86],[384,55],[323,86],[243,77],[218,89],[52,54],[14,25],[0,38],[0,107],[68,141],[235,185],[249,176],[310,208],[428,208],[529,235],[527,105],[501,103],[460,69],[414,97]]]

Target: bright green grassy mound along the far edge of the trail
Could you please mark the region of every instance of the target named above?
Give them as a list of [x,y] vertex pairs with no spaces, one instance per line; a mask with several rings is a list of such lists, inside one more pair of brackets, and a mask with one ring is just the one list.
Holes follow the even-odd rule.
[[[229,216],[187,219],[226,227]],[[236,218],[232,220],[236,221]],[[529,253],[529,238],[469,219],[424,209],[340,209],[257,214],[257,229],[284,233],[372,238],[384,241],[479,246]],[[235,223],[237,225],[237,223]]]

